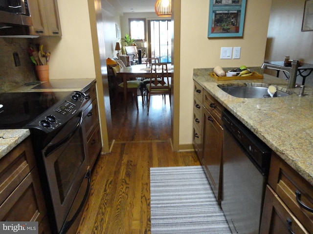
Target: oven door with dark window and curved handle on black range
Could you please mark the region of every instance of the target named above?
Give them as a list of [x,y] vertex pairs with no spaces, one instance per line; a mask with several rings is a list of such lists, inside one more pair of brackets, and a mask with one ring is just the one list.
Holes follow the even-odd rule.
[[[67,215],[81,185],[85,183],[83,180],[87,178],[90,181],[86,176],[89,162],[85,152],[87,142],[83,124],[81,111],[62,127],[42,151],[58,233],[68,219]],[[83,192],[84,202],[89,185],[83,187],[86,190]]]

